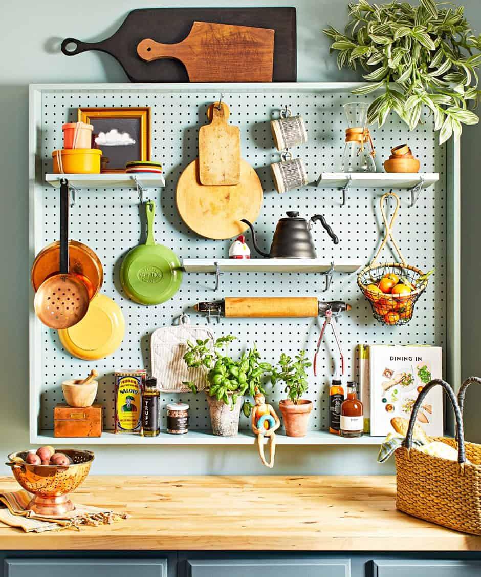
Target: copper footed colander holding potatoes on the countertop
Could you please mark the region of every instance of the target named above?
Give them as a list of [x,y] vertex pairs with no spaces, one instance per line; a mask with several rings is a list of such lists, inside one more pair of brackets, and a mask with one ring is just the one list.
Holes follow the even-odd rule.
[[13,476],[25,490],[35,495],[28,508],[37,515],[62,515],[73,511],[75,505],[69,499],[69,493],[89,474],[94,459],[92,451],[62,449],[61,452],[70,458],[70,465],[32,465],[17,460],[25,460],[28,451],[8,456],[6,464],[12,467]]

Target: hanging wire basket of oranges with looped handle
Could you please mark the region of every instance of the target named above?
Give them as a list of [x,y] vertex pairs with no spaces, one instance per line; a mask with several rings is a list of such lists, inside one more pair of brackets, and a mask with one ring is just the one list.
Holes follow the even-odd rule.
[[[384,201],[395,198],[396,208],[388,223],[384,212]],[[386,229],[381,246],[371,263],[359,272],[357,283],[362,294],[371,304],[374,318],[387,325],[403,325],[409,323],[414,312],[414,305],[426,290],[427,277],[419,268],[406,263],[397,242],[393,238],[392,228],[399,211],[399,197],[392,191],[383,194],[380,201],[382,220]],[[378,264],[378,258],[388,239],[396,249],[400,263]]]

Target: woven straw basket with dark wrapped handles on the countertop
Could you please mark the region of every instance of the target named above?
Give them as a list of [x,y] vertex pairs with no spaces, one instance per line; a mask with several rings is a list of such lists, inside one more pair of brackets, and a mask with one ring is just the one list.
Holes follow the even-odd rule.
[[[465,443],[463,405],[466,388],[481,379],[471,377],[461,385],[458,399],[448,383],[431,381],[419,393],[404,440],[396,449],[396,507],[420,519],[481,535],[481,445]],[[457,438],[434,437],[458,449],[458,462],[425,455],[411,448],[412,432],[423,399],[436,385],[441,385],[449,396],[456,415]],[[469,463],[466,462],[469,460]]]

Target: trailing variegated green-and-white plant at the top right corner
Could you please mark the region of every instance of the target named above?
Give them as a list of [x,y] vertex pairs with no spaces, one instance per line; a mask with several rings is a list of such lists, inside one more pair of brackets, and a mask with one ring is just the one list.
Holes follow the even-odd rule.
[[464,18],[463,6],[434,0],[371,5],[368,0],[349,3],[345,32],[332,26],[324,33],[338,50],[338,67],[365,70],[370,84],[353,93],[382,91],[372,102],[368,122],[382,126],[389,112],[397,113],[414,130],[423,108],[434,115],[440,144],[452,134],[459,137],[463,124],[476,124],[468,110],[478,99],[481,36],[475,36]]

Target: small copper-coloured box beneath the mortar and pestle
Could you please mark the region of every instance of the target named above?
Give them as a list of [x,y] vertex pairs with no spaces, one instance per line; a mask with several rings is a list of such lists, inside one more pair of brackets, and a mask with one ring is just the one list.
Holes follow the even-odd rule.
[[55,437],[101,437],[102,405],[69,407],[58,404],[54,409]]

